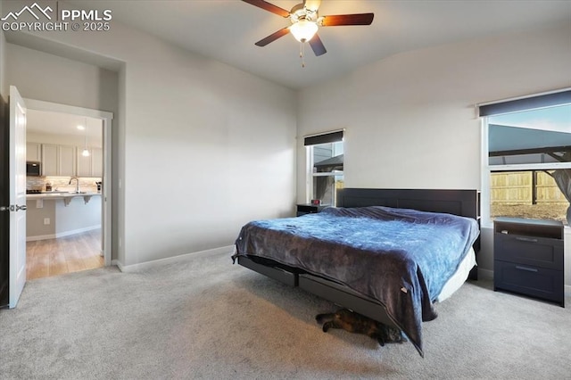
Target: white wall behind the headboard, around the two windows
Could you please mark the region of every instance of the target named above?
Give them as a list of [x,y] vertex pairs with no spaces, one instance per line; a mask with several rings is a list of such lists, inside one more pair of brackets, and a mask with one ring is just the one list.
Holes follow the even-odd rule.
[[[571,25],[397,54],[299,97],[302,136],[346,128],[347,187],[480,188],[480,120],[474,105],[571,86]],[[492,270],[484,229],[480,268]],[[571,252],[567,252],[567,261]],[[567,273],[571,284],[571,273]]]

